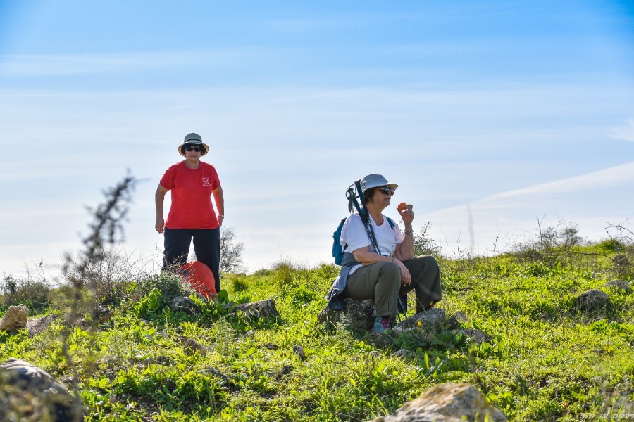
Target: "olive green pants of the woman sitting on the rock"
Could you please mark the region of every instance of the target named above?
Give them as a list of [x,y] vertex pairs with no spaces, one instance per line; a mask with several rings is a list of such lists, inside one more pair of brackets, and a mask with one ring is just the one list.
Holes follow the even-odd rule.
[[401,269],[394,262],[375,262],[363,266],[348,276],[344,296],[355,299],[373,299],[376,316],[398,313],[397,297],[414,290],[416,312],[428,309],[442,299],[440,269],[435,257],[422,255],[403,262],[411,274],[411,283],[401,285]]

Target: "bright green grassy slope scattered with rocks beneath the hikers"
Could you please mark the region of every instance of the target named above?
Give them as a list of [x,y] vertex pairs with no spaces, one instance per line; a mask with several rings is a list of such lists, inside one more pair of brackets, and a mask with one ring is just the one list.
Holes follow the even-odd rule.
[[[217,305],[198,318],[172,314],[157,290],[124,299],[94,335],[77,328],[70,336],[87,420],[364,421],[448,381],[477,386],[511,420],[634,414],[634,294],[604,287],[632,274],[611,271],[606,245],[565,252],[557,260],[440,262],[440,307],[490,335],[481,346],[447,332],[402,335],[380,348],[367,336],[317,326],[334,266],[280,263],[223,279],[234,302],[275,299],[277,321],[225,316]],[[609,293],[612,305],[585,316],[575,298],[590,288]],[[0,358],[20,357],[63,379],[71,371],[61,363],[60,329],[1,335]],[[181,336],[209,352],[186,354]],[[409,354],[394,357],[402,347]]]

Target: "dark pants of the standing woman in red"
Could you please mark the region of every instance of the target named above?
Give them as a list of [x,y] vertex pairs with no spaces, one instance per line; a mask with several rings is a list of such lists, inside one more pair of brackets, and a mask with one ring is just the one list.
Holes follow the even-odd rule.
[[196,259],[211,269],[220,291],[220,228],[218,229],[168,229],[163,232],[165,253],[163,270],[180,267],[187,262],[189,244],[194,239]]

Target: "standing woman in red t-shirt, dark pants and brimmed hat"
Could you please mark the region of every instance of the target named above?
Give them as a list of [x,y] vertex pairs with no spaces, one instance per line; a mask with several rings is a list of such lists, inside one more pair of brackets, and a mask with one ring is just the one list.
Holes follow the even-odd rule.
[[[156,231],[164,237],[163,270],[187,262],[193,238],[196,259],[211,269],[219,292],[220,226],[225,218],[225,199],[216,168],[200,160],[208,152],[209,146],[199,134],[185,136],[178,147],[185,160],[168,168],[156,188]],[[167,191],[172,191],[172,205],[165,220],[163,203]],[[218,215],[211,205],[211,196]]]

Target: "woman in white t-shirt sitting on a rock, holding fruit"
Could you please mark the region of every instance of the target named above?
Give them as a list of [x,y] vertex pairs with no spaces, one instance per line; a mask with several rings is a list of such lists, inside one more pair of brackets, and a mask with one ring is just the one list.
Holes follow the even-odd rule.
[[416,313],[430,309],[442,298],[440,269],[435,258],[431,255],[414,257],[412,205],[397,208],[403,219],[404,236],[398,226],[392,227],[381,213],[390,205],[397,187],[380,174],[368,174],[361,179],[378,251],[358,214],[347,218],[341,232],[343,265],[349,268],[342,296],[374,300],[377,317],[372,331],[376,333],[392,328],[399,295],[406,295],[410,290],[416,292]]

